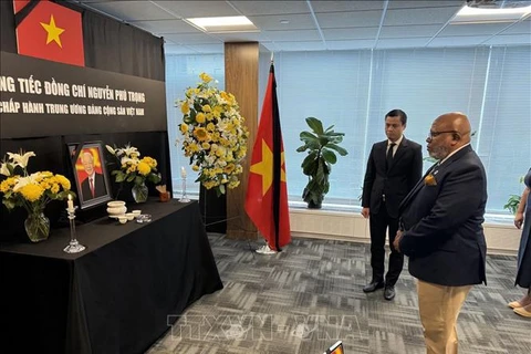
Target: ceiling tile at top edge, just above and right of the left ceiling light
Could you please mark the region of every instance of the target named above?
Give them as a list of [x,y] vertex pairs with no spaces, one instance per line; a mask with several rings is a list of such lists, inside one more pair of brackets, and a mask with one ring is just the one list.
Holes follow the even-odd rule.
[[306,1],[230,1],[242,14],[264,15],[264,14],[290,14],[290,13],[310,13]]

